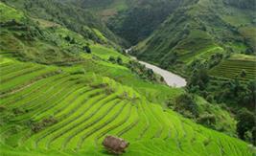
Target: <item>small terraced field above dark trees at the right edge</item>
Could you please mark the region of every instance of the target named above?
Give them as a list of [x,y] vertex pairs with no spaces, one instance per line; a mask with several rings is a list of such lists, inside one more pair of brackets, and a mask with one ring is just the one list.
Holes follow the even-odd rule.
[[[241,77],[242,71],[245,76]],[[240,78],[249,80],[256,78],[256,58],[253,56],[244,57],[244,55],[231,56],[224,60],[210,71],[210,75],[219,78]]]

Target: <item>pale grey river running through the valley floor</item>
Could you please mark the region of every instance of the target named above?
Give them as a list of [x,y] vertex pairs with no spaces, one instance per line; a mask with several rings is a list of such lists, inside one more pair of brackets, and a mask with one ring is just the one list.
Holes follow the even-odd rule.
[[[128,49],[126,52],[128,53],[131,49]],[[136,57],[132,56],[132,58],[137,59]],[[161,77],[164,78],[166,83],[171,86],[171,87],[177,87],[181,88],[187,85],[187,81],[185,78],[181,78],[178,75],[175,75],[174,73],[161,69],[155,65],[152,65],[150,63],[140,61],[138,60],[141,64],[145,65],[147,68],[151,69],[154,73],[160,75]]]

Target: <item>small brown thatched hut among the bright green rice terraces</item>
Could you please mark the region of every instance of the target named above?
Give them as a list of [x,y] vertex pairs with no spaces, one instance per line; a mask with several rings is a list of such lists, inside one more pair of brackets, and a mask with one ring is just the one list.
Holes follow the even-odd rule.
[[103,145],[111,153],[122,154],[125,152],[129,143],[121,138],[106,136]]

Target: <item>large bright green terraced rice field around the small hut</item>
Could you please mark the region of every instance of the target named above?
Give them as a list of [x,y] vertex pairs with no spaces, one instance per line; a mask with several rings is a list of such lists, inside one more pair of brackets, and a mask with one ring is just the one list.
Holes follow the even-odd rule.
[[[1,59],[1,155],[105,155],[109,134],[130,143],[124,155],[251,155],[130,87],[69,68]],[[33,130],[46,119],[55,122]]]

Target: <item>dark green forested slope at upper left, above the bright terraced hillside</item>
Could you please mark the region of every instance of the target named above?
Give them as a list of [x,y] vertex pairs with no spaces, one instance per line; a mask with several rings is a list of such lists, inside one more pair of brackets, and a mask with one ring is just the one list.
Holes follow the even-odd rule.
[[[105,23],[94,12],[81,9],[80,6],[66,4],[59,0],[1,1],[26,11],[32,17],[56,22],[95,42],[112,45],[123,42],[121,38],[109,31]],[[99,37],[97,30],[103,33],[107,39]]]

